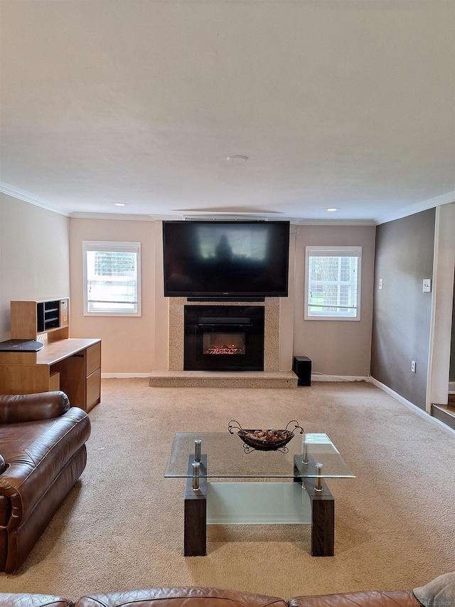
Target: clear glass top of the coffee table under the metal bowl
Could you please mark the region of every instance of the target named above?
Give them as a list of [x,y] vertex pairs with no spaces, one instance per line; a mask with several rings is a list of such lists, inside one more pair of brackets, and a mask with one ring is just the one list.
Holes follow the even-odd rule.
[[[303,463],[302,438],[305,436],[308,463]],[[294,478],[316,477],[316,463],[322,464],[319,475],[323,478],[355,478],[348,464],[326,434],[296,434],[287,444],[288,453],[281,451],[252,450],[245,453],[244,443],[237,434],[176,433],[165,477],[189,477],[189,457],[195,454],[195,440],[201,440],[202,455],[199,476],[207,478]],[[298,466],[294,469],[294,455]]]

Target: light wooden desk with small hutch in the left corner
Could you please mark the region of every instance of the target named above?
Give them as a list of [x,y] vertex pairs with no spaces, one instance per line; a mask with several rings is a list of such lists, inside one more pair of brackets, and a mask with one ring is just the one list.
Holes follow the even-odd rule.
[[11,339],[44,343],[39,352],[0,349],[0,394],[63,390],[90,411],[101,399],[101,339],[68,337],[68,298],[11,302]]

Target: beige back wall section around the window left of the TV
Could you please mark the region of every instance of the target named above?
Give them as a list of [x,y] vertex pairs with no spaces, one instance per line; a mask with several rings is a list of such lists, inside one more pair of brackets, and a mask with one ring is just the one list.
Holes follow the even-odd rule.
[[[141,317],[83,315],[82,241],[141,243]],[[154,221],[70,219],[70,337],[102,339],[102,374],[147,374],[154,369],[155,267]]]

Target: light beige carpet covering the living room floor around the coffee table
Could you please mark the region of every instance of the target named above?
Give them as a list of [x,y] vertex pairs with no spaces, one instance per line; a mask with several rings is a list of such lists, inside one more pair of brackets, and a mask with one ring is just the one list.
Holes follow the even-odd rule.
[[[409,589],[455,569],[455,438],[372,384],[296,389],[151,388],[105,379],[90,412],[82,477],[0,591],[77,598],[150,586],[272,596]],[[357,474],[329,480],[335,556],[309,554],[309,527],[208,528],[208,556],[183,556],[183,479],[165,479],[176,431],[283,427],[326,432]]]

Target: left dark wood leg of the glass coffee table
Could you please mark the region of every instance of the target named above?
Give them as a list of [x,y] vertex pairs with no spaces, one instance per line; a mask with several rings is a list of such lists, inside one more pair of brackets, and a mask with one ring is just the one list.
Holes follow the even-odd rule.
[[[207,470],[207,455],[200,458],[200,473]],[[205,556],[207,554],[207,478],[199,478],[199,489],[193,489],[194,455],[188,459],[188,477],[185,488],[185,514],[183,527],[183,554]]]

